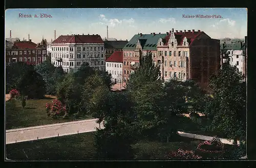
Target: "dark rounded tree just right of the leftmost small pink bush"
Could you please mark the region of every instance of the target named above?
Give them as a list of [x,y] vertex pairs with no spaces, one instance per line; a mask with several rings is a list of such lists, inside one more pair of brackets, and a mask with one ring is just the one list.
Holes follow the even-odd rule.
[[45,95],[45,81],[35,70],[27,71],[17,88],[22,95],[28,96],[28,99],[42,99]]

